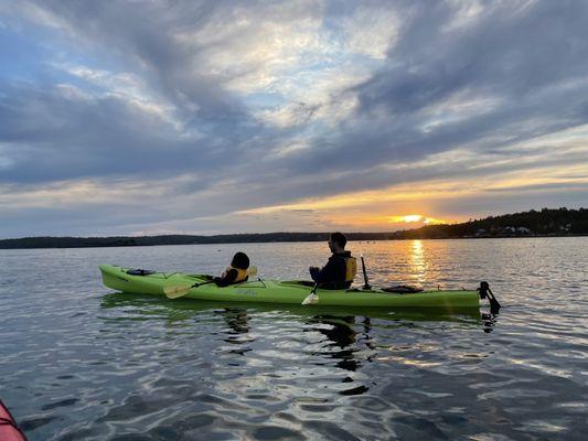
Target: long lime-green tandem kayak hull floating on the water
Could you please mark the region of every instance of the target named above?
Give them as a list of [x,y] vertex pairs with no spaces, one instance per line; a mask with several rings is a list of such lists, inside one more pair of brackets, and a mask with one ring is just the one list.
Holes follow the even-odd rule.
[[[257,279],[220,288],[210,283],[210,277],[206,275],[153,272],[116,265],[100,265],[99,268],[106,287],[136,294],[165,295],[170,290],[185,287],[182,298],[201,301],[301,304],[312,290],[312,282],[299,280]],[[197,286],[199,283],[202,284]],[[460,310],[480,305],[480,294],[477,290],[434,290],[410,293],[388,291],[388,289],[379,288],[351,288],[348,290],[318,289],[316,293],[317,303],[325,306]]]

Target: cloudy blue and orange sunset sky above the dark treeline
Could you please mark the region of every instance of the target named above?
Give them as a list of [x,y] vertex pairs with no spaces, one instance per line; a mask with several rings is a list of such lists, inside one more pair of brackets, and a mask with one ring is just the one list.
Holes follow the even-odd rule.
[[0,238],[588,206],[588,2],[0,0]]

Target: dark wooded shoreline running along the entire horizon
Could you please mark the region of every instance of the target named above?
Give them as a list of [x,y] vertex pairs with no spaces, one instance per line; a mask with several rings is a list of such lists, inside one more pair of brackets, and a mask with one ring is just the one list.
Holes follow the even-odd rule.
[[[588,235],[588,209],[549,209],[490,216],[461,224],[428,225],[394,233],[346,233],[350,240],[443,239],[466,237]],[[216,236],[165,235],[140,237],[23,237],[0,240],[0,249],[87,248],[152,245],[321,241],[328,233],[261,233]]]

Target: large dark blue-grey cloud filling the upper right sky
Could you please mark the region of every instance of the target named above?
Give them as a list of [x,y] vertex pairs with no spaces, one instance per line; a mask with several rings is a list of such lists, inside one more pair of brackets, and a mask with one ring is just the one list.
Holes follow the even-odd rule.
[[585,6],[500,3],[475,26],[448,30],[450,4],[407,8],[386,66],[353,88],[353,119],[319,139],[336,147],[308,161],[330,169],[484,151],[586,122]]

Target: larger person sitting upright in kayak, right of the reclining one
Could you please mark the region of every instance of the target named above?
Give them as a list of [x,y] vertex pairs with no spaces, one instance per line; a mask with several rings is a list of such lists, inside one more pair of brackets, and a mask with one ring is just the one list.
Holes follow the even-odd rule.
[[351,251],[345,251],[348,238],[342,233],[331,233],[329,248],[332,256],[322,268],[310,267],[310,277],[323,289],[348,289],[357,272],[357,262]]

